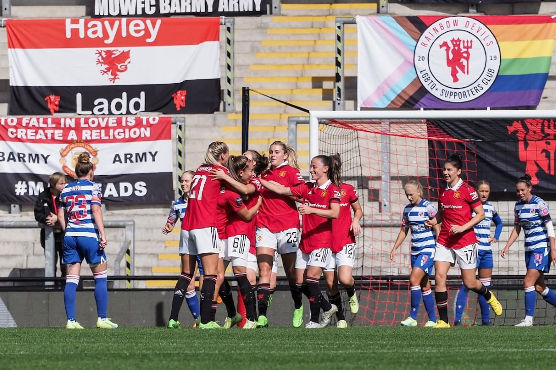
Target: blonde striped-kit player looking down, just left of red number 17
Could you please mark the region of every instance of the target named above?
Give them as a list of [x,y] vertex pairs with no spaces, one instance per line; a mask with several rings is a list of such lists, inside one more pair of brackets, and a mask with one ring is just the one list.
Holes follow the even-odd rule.
[[417,313],[422,294],[426,312],[429,314],[429,321],[425,323],[425,327],[433,327],[436,325],[436,313],[429,274],[434,267],[436,240],[433,230],[425,228],[425,221],[431,220],[434,232],[438,236],[440,225],[435,218],[437,209],[433,203],[423,199],[423,186],[419,182],[409,181],[405,184],[404,190],[410,203],[404,208],[401,230],[390,252],[390,259],[394,261],[396,250],[411,229],[411,274],[409,275],[411,311],[401,325],[417,326]]

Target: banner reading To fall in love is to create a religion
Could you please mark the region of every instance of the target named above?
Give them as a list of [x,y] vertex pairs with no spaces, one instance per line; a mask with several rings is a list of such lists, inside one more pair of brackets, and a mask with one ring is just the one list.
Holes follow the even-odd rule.
[[0,118],[0,203],[33,203],[53,172],[75,177],[79,154],[95,164],[107,203],[173,198],[170,117]]

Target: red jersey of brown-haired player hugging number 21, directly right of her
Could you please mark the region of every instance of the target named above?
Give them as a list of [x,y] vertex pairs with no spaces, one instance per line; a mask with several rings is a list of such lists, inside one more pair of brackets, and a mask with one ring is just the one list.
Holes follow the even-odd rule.
[[226,186],[220,189],[216,211],[216,225],[220,239],[224,240],[231,236],[247,234],[249,227],[237,214],[237,211],[243,208],[245,208],[245,204],[240,194]]

